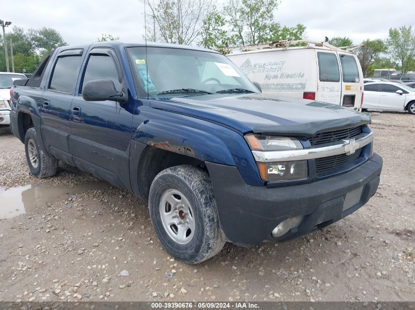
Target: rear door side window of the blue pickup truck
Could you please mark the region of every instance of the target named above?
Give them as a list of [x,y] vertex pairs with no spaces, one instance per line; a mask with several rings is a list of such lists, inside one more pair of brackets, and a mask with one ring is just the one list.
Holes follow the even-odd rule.
[[59,92],[72,93],[77,81],[78,67],[81,55],[61,56],[57,58],[52,73],[49,89]]

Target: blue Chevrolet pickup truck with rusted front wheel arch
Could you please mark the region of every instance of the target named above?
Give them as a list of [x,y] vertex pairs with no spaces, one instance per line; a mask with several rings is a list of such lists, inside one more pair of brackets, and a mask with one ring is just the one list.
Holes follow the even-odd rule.
[[160,242],[198,263],[226,241],[285,241],[353,213],[382,158],[370,118],[261,94],[200,48],[102,42],[56,48],[11,91],[11,129],[30,172],[58,161],[148,201]]

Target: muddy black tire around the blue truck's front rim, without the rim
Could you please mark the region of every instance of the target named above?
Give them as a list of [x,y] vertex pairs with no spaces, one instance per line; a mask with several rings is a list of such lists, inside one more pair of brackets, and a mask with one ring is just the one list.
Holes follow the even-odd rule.
[[[177,243],[168,235],[163,224],[160,204],[168,191],[180,191],[185,196],[180,199],[187,199],[192,207],[194,235],[187,244]],[[194,264],[221,251],[225,239],[219,225],[212,183],[206,171],[194,166],[176,166],[163,170],[151,184],[148,204],[157,237],[166,251],[176,259]]]

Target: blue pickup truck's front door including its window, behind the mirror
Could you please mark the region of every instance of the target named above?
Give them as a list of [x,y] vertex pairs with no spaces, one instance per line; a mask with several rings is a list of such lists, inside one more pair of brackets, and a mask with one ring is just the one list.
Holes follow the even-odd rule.
[[75,165],[115,186],[129,188],[129,145],[134,110],[130,105],[134,103],[85,101],[82,97],[83,86],[91,80],[112,80],[121,93],[125,86],[118,58],[111,49],[92,49],[81,72],[70,118],[69,149]]

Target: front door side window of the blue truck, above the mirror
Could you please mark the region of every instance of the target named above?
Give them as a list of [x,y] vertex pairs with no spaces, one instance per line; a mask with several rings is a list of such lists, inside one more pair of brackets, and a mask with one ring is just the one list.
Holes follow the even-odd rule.
[[[115,89],[121,91],[122,85],[118,81],[118,71],[112,58],[108,55],[90,55],[83,74],[83,85],[92,80],[111,80]],[[81,93],[82,93],[81,89]]]

